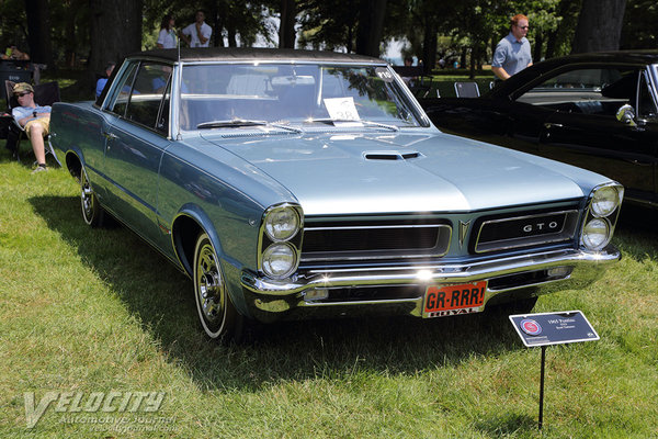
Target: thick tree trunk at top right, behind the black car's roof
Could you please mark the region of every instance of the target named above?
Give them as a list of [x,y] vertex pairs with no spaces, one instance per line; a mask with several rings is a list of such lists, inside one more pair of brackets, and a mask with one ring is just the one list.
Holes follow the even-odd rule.
[[617,50],[626,0],[582,0],[572,54]]

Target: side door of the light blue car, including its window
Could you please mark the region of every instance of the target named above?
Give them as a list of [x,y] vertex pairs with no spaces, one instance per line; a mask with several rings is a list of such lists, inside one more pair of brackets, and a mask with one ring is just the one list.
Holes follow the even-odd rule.
[[171,67],[152,61],[132,66],[114,90],[114,114],[106,127],[104,172],[110,181],[107,206],[140,236],[160,246],[157,223],[158,173],[170,145]]

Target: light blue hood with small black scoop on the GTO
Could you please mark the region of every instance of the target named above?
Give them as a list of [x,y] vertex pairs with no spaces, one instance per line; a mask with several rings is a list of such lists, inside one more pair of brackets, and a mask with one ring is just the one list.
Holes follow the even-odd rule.
[[468,212],[583,196],[561,164],[446,134],[204,137],[285,187],[307,215]]

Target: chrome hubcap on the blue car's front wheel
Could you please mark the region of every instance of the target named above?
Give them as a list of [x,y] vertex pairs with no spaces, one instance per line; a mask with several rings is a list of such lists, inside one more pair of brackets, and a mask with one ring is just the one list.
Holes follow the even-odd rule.
[[224,283],[215,259],[215,251],[208,244],[200,251],[196,266],[196,294],[205,318],[214,322],[222,318],[224,309]]

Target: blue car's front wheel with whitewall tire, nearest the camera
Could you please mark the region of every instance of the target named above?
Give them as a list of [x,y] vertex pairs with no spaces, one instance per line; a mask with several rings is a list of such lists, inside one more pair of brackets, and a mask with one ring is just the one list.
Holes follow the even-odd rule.
[[211,338],[240,338],[243,317],[226,291],[219,258],[208,235],[202,233],[194,249],[194,299],[203,329]]

